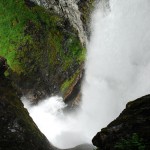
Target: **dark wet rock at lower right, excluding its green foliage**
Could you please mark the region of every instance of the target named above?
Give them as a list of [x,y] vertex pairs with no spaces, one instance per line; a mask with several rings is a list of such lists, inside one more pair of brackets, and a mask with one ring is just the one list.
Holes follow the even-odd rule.
[[120,116],[103,128],[92,142],[101,150],[115,150],[121,139],[130,139],[137,134],[150,149],[150,95],[129,102]]

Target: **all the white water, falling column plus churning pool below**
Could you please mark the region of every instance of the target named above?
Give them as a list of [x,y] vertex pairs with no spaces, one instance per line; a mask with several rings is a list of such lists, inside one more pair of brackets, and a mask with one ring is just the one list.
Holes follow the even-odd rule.
[[150,1],[110,0],[110,10],[102,6],[92,16],[81,111],[64,116],[58,97],[27,106],[41,131],[61,148],[90,142],[127,101],[150,93]]

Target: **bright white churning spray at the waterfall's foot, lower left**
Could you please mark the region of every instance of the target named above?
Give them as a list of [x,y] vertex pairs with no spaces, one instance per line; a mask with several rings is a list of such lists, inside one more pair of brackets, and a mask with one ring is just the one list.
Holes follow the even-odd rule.
[[76,113],[66,115],[63,109],[67,106],[61,97],[54,96],[42,100],[32,106],[26,97],[22,97],[24,107],[48,140],[58,148],[71,148],[87,143],[88,139],[82,132],[82,122]]

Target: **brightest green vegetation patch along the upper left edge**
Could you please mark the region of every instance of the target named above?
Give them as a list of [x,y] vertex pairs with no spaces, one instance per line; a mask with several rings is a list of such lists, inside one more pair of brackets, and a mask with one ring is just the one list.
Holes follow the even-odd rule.
[[7,58],[9,66],[18,73],[23,71],[17,59],[18,47],[27,41],[24,29],[31,18],[35,16],[23,0],[0,1],[0,55]]

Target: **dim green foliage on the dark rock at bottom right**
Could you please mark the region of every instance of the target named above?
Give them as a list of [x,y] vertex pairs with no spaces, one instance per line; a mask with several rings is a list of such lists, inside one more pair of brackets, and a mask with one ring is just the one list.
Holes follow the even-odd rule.
[[145,150],[145,144],[139,136],[134,133],[129,139],[121,139],[116,145],[116,150]]

